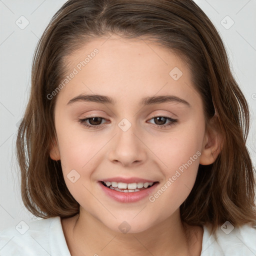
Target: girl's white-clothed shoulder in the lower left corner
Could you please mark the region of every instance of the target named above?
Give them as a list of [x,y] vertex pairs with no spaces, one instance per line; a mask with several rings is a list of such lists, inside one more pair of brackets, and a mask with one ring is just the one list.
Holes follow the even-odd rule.
[[20,221],[0,231],[0,256],[70,256],[60,217]]

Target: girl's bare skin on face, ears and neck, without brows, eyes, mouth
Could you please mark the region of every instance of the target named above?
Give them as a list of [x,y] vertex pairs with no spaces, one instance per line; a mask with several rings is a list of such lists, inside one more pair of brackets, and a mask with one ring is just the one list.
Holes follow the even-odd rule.
[[[200,255],[203,229],[186,225],[187,241],[179,206],[193,187],[199,163],[216,159],[218,134],[206,129],[201,97],[178,55],[141,38],[106,38],[94,39],[66,57],[68,75],[83,56],[99,50],[58,92],[54,109],[57,137],[50,156],[61,159],[66,185],[80,204],[79,215],[61,219],[71,255]],[[178,80],[169,75],[174,67],[183,73]],[[116,104],[67,104],[79,94],[106,95]],[[158,95],[178,96],[190,106],[139,105],[141,98]],[[78,121],[90,114],[104,118],[96,121],[97,128]],[[155,116],[177,122],[159,128],[170,121],[157,122]],[[123,118],[131,123],[125,132],[118,126]],[[86,123],[92,125],[93,120]],[[117,202],[98,185],[108,177],[140,177],[158,181],[159,189],[197,151],[200,156],[154,202],[148,197]],[[80,175],[74,183],[67,178],[72,169]],[[123,221],[130,225],[127,233],[118,228]]]

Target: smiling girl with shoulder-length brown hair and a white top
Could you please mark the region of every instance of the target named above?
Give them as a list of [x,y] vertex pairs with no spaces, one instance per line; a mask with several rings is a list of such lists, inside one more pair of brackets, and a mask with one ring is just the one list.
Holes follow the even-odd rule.
[[31,83],[17,157],[43,219],[0,255],[255,255],[248,106],[192,0],[67,1]]

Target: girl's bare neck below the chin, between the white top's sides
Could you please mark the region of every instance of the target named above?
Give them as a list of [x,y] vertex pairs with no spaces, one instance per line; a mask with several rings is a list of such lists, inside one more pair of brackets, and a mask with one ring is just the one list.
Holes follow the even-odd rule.
[[[72,236],[67,239],[72,255],[200,255],[201,239],[194,239],[192,229],[182,224],[179,209],[164,221],[137,233],[113,231],[82,209],[69,223],[64,233]],[[191,250],[197,254],[191,254]]]

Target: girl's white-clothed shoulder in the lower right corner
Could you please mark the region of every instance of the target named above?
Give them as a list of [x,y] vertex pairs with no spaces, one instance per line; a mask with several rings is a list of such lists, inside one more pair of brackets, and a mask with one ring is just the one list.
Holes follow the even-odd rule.
[[256,255],[256,226],[251,223],[233,226],[226,221],[213,234],[210,225],[203,226],[201,256],[206,255]]

